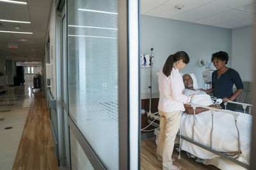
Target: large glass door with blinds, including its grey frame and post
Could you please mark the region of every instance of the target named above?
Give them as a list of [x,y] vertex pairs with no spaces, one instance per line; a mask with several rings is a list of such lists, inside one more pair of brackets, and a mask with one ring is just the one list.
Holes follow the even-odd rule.
[[[130,73],[136,74],[136,79],[130,81],[136,90],[129,91],[129,65],[134,60],[138,65],[138,53],[133,50],[135,58],[127,62],[128,4],[124,0],[67,1],[70,169],[130,169],[131,164],[138,167],[138,66],[134,66],[137,72]],[[122,23],[118,23],[120,20]],[[136,96],[131,99],[137,101],[133,107],[129,106],[129,96]],[[129,110],[135,114],[132,130]],[[131,131],[135,132],[133,138]],[[129,139],[132,145],[135,140],[135,147],[129,146]],[[135,151],[131,152],[132,148]],[[135,161],[130,159],[131,153]]]

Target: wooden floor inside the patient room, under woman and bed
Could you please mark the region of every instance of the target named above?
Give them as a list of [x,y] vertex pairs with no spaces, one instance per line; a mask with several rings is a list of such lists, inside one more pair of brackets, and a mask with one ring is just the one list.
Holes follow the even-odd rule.
[[[141,170],[157,170],[162,169],[161,162],[156,158],[156,138],[148,138],[141,140]],[[195,162],[194,159],[189,159],[186,153],[181,153],[181,159],[178,159],[179,153],[173,151],[173,158],[175,162],[173,164],[182,167],[182,169],[218,169],[215,166],[205,166],[202,163]]]

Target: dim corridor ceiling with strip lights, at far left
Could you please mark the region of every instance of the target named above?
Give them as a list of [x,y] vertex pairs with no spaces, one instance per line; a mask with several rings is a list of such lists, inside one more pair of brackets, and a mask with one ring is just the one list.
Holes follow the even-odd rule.
[[[16,1],[28,4],[0,1],[0,20],[26,21],[31,24],[0,21],[0,31],[33,32],[33,34],[0,32],[0,57],[12,60],[41,61],[45,51],[45,37],[52,0]],[[20,25],[19,30],[15,29],[16,25]],[[15,48],[8,48],[8,46]]]

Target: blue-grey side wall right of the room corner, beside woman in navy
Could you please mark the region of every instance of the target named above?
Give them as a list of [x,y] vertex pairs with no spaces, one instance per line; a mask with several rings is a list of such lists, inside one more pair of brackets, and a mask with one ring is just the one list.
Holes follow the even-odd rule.
[[232,68],[236,69],[242,81],[253,81],[253,27],[232,30]]

